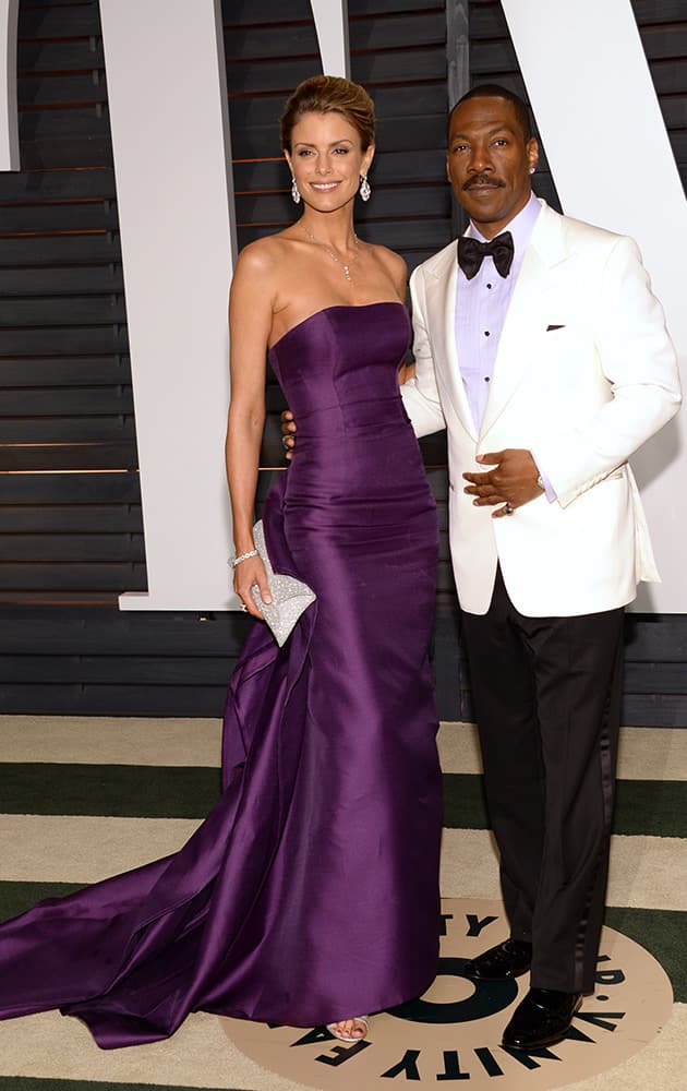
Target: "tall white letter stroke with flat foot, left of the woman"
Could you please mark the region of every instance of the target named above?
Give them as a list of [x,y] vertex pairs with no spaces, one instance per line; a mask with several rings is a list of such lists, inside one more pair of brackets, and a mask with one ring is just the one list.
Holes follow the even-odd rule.
[[232,604],[224,471],[233,191],[219,0],[100,0],[148,592]]

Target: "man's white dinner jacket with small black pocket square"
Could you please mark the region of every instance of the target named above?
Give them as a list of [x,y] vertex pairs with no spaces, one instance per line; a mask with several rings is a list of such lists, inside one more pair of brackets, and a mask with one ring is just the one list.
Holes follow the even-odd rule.
[[[520,613],[570,616],[629,602],[658,580],[627,459],[677,412],[675,350],[631,239],[544,202],[514,286],[475,429],[455,335],[456,243],[413,273],[417,376],[402,389],[418,435],[448,433],[449,540],[463,610],[489,609],[496,564]],[[492,518],[463,493],[475,454],[537,452],[555,490]]]

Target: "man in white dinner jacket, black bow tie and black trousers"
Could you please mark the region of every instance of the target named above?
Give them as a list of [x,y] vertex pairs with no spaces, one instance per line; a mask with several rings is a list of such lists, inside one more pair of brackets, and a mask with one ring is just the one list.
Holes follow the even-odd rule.
[[[594,987],[620,716],[623,608],[659,578],[628,458],[677,411],[635,243],[531,193],[527,108],[474,88],[449,121],[467,239],[411,278],[418,435],[446,428],[449,536],[510,939],[531,966],[504,1044],[565,1036]],[[478,245],[475,245],[475,241]]]

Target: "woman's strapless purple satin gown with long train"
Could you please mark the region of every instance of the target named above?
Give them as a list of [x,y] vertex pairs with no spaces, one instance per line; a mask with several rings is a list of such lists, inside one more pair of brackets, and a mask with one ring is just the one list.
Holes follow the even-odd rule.
[[408,336],[400,304],[329,307],[272,349],[299,432],[266,540],[317,601],[282,649],[255,623],[191,840],[0,927],[1,1017],[59,1007],[114,1048],[200,1009],[332,1022],[434,979],[438,535],[397,388]]

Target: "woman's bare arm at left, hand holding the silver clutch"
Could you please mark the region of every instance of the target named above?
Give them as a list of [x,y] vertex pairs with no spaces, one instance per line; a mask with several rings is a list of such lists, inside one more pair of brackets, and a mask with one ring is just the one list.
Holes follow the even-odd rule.
[[[265,370],[273,320],[273,262],[261,243],[246,248],[237,262],[229,299],[231,400],[227,424],[227,481],[237,556],[255,548],[253,523],[260,446],[265,425]],[[254,616],[262,616],[251,594],[257,584],[268,602],[265,567],[257,556],[234,568],[237,595]]]

